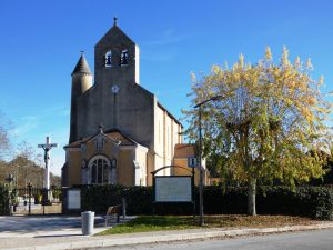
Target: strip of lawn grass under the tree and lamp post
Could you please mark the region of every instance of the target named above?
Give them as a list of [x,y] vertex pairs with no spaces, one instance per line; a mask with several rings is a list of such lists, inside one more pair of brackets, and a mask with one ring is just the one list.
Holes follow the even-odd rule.
[[[294,224],[312,224],[315,221],[287,216],[242,216],[242,214],[225,214],[225,216],[205,216],[204,228],[272,228]],[[189,216],[141,216],[124,224],[120,224],[97,236],[109,236],[119,233],[164,231],[164,230],[185,230],[195,229],[199,227],[199,217]]]

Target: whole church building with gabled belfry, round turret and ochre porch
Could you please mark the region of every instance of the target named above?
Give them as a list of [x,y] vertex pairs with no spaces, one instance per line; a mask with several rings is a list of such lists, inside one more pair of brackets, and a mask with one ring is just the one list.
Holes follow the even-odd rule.
[[[173,164],[183,127],[140,84],[139,69],[139,47],[117,19],[94,47],[94,76],[81,54],[71,74],[63,187],[151,186],[152,171]],[[172,170],[160,174],[172,174]]]

